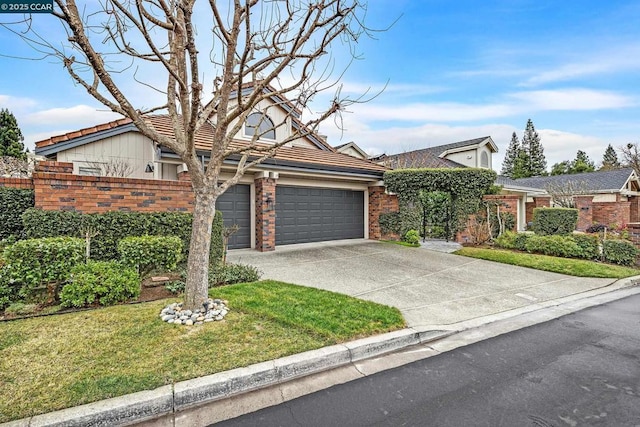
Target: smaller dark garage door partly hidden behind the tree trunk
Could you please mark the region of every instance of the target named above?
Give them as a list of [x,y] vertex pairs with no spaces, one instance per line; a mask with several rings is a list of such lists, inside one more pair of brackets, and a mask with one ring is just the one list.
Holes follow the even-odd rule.
[[251,247],[251,191],[248,185],[237,184],[216,201],[222,212],[224,226],[238,224],[240,229],[229,238],[229,249]]

